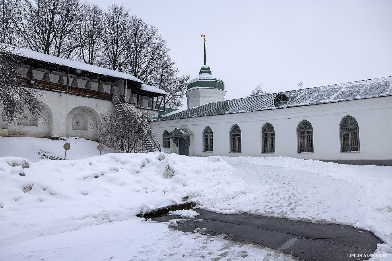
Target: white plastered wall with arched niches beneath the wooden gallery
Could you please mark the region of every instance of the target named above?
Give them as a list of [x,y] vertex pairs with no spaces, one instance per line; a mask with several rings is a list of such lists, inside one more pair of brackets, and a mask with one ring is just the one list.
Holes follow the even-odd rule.
[[[37,90],[38,92],[38,90]],[[64,92],[39,90],[44,104],[44,118],[38,126],[8,125],[0,120],[0,135],[19,137],[51,137],[53,135],[75,136],[85,139],[97,139],[91,123],[99,120],[99,115],[109,108],[114,108],[111,101],[71,95]],[[132,105],[131,105],[132,108]],[[157,117],[158,112],[148,109],[132,108],[135,113],[149,113],[149,117]],[[87,117],[87,120],[86,120]],[[75,126],[83,119],[83,126]],[[87,126],[86,126],[87,124]],[[74,126],[73,126],[74,125]]]

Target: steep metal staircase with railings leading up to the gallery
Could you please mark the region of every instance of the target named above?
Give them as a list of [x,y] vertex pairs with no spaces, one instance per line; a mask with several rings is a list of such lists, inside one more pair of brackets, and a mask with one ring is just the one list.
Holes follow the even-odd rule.
[[[127,101],[123,97],[122,100],[124,101],[124,103],[120,101],[120,99],[117,97],[116,94],[113,94],[112,102],[114,107],[116,107],[118,113],[120,113],[120,115],[125,117],[125,119],[128,119],[130,123],[132,122],[132,124],[137,124],[138,127],[137,129],[140,131],[140,135],[142,136],[141,139],[142,151],[144,146],[145,150],[149,152],[157,151],[157,150],[161,152],[160,143],[158,139],[156,139],[154,133],[152,132],[150,126],[148,126],[145,119],[138,119],[138,117],[136,117],[134,112],[131,110],[131,107],[127,103]],[[137,146],[135,146],[134,151],[136,151],[136,147]]]

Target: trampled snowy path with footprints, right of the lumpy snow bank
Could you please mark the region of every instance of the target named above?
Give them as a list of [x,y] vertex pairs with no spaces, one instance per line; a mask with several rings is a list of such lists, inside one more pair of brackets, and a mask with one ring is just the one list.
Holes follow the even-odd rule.
[[354,225],[358,221],[363,193],[355,184],[282,167],[232,165],[230,174],[252,184],[254,192],[233,198],[227,207],[318,223]]

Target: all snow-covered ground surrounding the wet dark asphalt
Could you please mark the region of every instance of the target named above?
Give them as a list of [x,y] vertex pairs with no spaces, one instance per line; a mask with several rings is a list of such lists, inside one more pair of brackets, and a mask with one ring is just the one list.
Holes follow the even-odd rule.
[[[64,157],[65,142],[69,160],[40,160]],[[387,258],[371,260],[392,260],[392,167],[288,157],[94,156],[96,145],[0,137],[0,260],[293,260],[136,217],[187,201],[220,213],[353,225],[385,242],[376,253]]]

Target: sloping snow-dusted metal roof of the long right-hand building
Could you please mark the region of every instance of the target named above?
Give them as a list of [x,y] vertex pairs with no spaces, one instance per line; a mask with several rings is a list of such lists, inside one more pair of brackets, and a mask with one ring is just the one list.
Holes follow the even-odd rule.
[[274,110],[315,104],[336,103],[339,101],[392,96],[392,76],[301,90],[291,90],[284,93],[289,95],[290,98],[293,98],[285,104],[276,106],[274,104],[274,99],[277,94],[281,93],[283,92],[228,101],[219,101],[216,103],[207,103],[183,112],[168,115],[167,117],[154,119],[152,121],[168,121],[191,117]]

